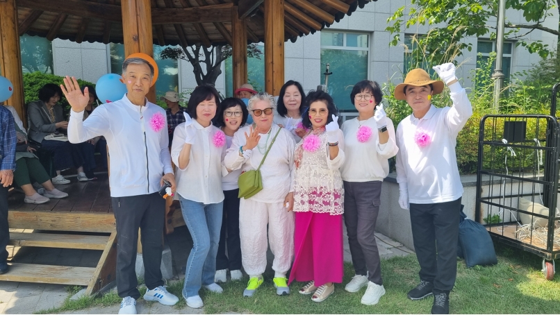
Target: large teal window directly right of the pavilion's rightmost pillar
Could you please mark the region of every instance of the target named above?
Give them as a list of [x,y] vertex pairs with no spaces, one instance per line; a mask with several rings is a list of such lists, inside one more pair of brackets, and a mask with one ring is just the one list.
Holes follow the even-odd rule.
[[333,74],[327,90],[340,111],[356,111],[350,92],[354,84],[368,78],[369,51],[367,33],[321,32],[321,84],[328,63]]

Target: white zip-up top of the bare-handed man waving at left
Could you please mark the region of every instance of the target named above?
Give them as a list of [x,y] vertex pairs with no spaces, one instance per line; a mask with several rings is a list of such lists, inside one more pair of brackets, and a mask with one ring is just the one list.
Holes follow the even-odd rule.
[[[164,125],[156,131],[150,121],[161,114]],[[160,117],[160,118],[161,118]],[[104,136],[110,153],[111,197],[152,194],[160,189],[164,173],[173,173],[165,110],[146,101],[134,105],[126,97],[99,106],[83,120],[83,111],[70,112],[68,139],[81,143]]]

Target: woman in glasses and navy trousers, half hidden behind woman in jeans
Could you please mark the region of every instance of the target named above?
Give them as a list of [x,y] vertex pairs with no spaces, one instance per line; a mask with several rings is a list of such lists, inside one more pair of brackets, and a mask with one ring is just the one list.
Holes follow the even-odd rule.
[[[233,135],[241,126],[244,126],[249,117],[245,103],[240,99],[229,97],[221,103],[222,110],[216,115],[214,124],[222,129],[226,135],[226,145],[229,148]],[[239,239],[239,186],[238,178],[241,169],[229,172],[222,178],[224,190],[224,216],[222,217],[222,230],[220,243],[217,246],[216,274],[214,281],[226,282],[227,269],[231,280],[241,280],[241,244]],[[227,239],[226,239],[227,235]],[[227,255],[226,255],[227,246]]]

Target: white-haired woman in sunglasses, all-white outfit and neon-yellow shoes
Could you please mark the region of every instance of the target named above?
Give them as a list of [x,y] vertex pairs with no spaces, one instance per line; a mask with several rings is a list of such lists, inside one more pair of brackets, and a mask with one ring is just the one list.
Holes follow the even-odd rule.
[[242,171],[257,169],[263,162],[260,168],[263,189],[254,196],[241,198],[239,205],[242,265],[249,275],[243,296],[253,296],[263,284],[269,242],[274,254],[274,287],[278,295],[290,293],[286,273],[294,251],[294,216],[290,210],[294,205],[295,142],[286,128],[272,123],[275,107],[274,97],[266,93],[249,99],[254,124],[240,128],[233,135],[224,159],[228,169]]

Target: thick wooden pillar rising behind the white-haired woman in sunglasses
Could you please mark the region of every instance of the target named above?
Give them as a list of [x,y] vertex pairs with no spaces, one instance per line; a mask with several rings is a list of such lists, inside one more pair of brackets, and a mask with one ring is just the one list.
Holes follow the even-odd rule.
[[284,84],[284,0],[265,0],[265,90],[274,96]]

